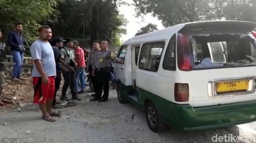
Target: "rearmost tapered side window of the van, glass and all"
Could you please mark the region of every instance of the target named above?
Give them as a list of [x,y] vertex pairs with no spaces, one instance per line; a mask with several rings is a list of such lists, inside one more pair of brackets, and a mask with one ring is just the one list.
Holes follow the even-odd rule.
[[176,34],[174,34],[171,40],[168,43],[168,46],[165,51],[165,55],[163,58],[163,69],[176,71]]

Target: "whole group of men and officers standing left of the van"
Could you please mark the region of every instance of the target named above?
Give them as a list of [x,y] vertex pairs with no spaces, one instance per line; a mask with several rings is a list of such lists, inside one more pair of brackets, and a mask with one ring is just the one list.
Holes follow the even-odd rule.
[[[38,33],[39,39],[32,43],[30,52],[34,63],[32,70],[33,102],[39,104],[42,111],[42,119],[55,121],[53,117],[60,116],[59,113],[52,110],[52,107],[57,104],[56,93],[60,88],[61,75],[63,76],[64,84],[60,100],[70,100],[66,95],[67,89],[70,87],[71,100],[81,101],[78,94],[85,91],[85,72],[88,72],[95,91],[94,97],[90,101],[108,101],[111,63],[115,61],[123,64],[124,61],[108,50],[109,42],[107,40],[94,41],[92,50],[87,57],[87,54],[79,46],[78,41],[72,38],[66,38],[65,40],[60,37],[52,38],[52,31],[49,26],[41,26],[38,29]],[[1,36],[2,34],[0,33],[0,38]],[[20,74],[25,51],[22,24],[15,24],[15,30],[10,32],[7,39],[15,62],[11,78],[19,81],[23,79]],[[88,59],[87,62],[86,59]],[[79,82],[81,88],[78,86]]]

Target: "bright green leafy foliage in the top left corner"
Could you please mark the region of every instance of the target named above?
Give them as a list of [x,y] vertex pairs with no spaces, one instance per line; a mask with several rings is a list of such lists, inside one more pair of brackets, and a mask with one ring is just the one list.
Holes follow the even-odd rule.
[[58,1],[60,0],[0,0],[1,27],[11,30],[15,23],[21,23],[24,36],[31,43],[37,38],[39,23],[49,21],[49,17],[57,13],[54,8]]

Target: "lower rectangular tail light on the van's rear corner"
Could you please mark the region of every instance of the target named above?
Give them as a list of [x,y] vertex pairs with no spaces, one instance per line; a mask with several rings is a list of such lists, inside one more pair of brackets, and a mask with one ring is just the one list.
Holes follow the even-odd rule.
[[188,84],[175,83],[174,97],[175,97],[175,101],[177,102],[187,102],[189,99]]

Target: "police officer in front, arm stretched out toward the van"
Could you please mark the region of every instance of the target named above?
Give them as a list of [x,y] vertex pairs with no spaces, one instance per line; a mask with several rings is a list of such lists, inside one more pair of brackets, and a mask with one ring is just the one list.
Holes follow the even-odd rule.
[[[109,42],[102,40],[100,43],[100,51],[96,53],[96,62],[93,66],[92,75],[95,76],[95,97],[90,101],[105,102],[108,101],[109,95],[109,78],[110,78],[110,62],[114,60],[117,63],[124,64],[124,61],[117,58],[112,51],[108,50]],[[104,88],[103,88],[104,87]],[[103,96],[101,98],[103,88]]]

